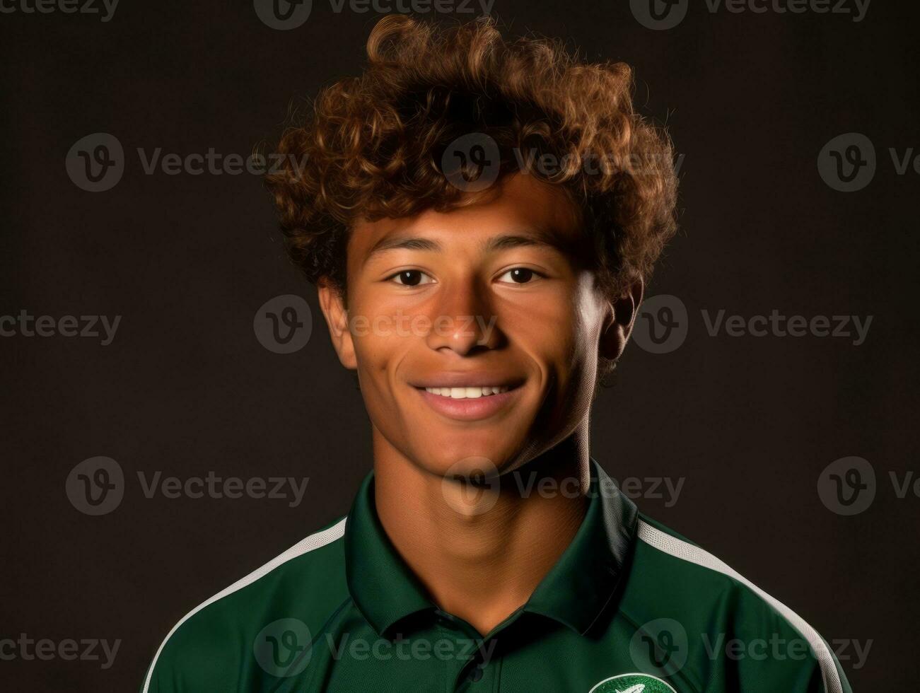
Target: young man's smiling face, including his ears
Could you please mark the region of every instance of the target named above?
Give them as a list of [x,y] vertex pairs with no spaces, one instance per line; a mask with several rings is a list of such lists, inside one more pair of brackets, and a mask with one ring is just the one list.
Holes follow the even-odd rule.
[[321,298],[378,445],[439,475],[508,471],[586,421],[612,306],[577,216],[517,175],[491,202],[354,226],[347,312]]

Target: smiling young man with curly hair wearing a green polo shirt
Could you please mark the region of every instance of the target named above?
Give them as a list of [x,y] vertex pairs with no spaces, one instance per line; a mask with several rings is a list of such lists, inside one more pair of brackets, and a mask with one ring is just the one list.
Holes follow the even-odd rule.
[[347,517],[182,618],[144,693],[849,691],[811,627],[589,457],[675,226],[629,69],[485,20],[387,17],[368,54],[269,183],[374,471]]

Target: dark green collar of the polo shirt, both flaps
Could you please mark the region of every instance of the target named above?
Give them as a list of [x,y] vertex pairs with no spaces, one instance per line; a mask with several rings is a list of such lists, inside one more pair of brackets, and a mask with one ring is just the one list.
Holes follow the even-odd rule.
[[[523,611],[584,634],[615,595],[637,517],[635,503],[591,460],[587,513]],[[436,608],[386,537],[374,506],[373,472],[364,479],[345,526],[345,561],[351,597],[379,635],[404,618]]]

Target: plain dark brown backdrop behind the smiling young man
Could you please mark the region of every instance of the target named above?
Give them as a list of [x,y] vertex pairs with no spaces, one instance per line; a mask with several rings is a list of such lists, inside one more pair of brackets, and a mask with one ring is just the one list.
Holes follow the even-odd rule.
[[[82,0],[81,0],[82,2]],[[234,6],[231,6],[234,5]],[[896,9],[902,7],[904,9]],[[907,9],[909,7],[909,9]],[[828,640],[873,641],[845,669],[857,690],[916,689],[918,175],[888,155],[917,137],[920,9],[710,14],[644,29],[626,2],[497,0],[512,32],[568,38],[637,69],[644,113],[684,155],[682,232],[650,286],[690,311],[684,345],[627,351],[594,412],[593,454],[616,478],[685,477],[679,502],[640,499]],[[469,18],[470,15],[458,15]],[[6,690],[132,690],[192,606],[344,514],[370,468],[368,423],[325,326],[290,355],[255,339],[272,296],[312,289],[284,260],[260,180],[144,175],[137,147],[246,156],[289,99],[355,73],[377,15],[316,0],[278,31],[251,2],[130,2],[98,16],[0,15],[0,315],[121,315],[115,340],[0,338],[4,595],[0,638],[121,639],[114,666],[0,662]],[[88,133],[127,154],[90,193],[64,157]],[[822,146],[865,133],[879,170],[842,193]],[[831,338],[707,334],[700,311],[874,316],[855,347]],[[121,506],[68,502],[69,471],[119,461]],[[843,456],[875,467],[863,514],[827,510],[817,483]],[[135,473],[308,476],[298,508],[272,500],[146,499]],[[852,653],[852,647],[847,651]]]

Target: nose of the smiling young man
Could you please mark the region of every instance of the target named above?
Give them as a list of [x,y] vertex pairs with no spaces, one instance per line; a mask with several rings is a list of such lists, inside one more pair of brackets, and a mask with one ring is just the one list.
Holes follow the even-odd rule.
[[495,349],[501,341],[498,318],[487,290],[469,280],[443,288],[436,315],[431,319],[428,345],[436,351],[467,356]]

